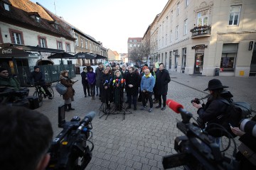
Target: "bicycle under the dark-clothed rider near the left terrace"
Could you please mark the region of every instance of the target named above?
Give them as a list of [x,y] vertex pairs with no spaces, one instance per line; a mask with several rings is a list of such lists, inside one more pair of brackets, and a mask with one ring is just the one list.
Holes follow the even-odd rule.
[[[46,91],[43,90],[43,87],[41,85],[35,84],[36,91],[33,93],[33,96],[38,97],[39,106],[41,107],[43,105],[43,98],[46,98]],[[51,86],[51,83],[46,84],[46,88],[48,91],[50,91],[50,94],[52,97],[54,97],[54,91],[53,87]]]

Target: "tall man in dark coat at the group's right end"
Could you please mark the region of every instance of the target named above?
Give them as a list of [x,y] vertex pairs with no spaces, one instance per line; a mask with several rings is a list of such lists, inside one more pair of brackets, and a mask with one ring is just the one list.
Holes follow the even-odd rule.
[[168,70],[164,69],[164,64],[159,64],[159,72],[156,73],[156,98],[158,98],[159,106],[156,108],[161,108],[161,98],[163,98],[162,111],[166,109],[166,95],[168,91],[168,84],[171,81]]

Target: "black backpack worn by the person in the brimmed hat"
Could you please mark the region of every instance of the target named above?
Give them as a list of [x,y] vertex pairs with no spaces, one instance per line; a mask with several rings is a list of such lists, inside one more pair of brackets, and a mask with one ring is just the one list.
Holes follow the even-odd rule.
[[[236,137],[236,135],[231,131],[230,125],[233,127],[240,126],[240,120],[244,118],[249,118],[252,114],[252,106],[246,102],[229,102],[225,98],[218,99],[223,103],[227,104],[228,107],[226,108],[224,115],[219,115],[215,123],[222,125],[225,130],[227,130],[232,137]],[[207,130],[208,128],[208,130]],[[206,131],[209,132],[210,135],[214,137],[230,137],[226,132],[222,132],[221,130],[210,130],[210,128],[219,128],[216,125],[208,125],[206,127]]]

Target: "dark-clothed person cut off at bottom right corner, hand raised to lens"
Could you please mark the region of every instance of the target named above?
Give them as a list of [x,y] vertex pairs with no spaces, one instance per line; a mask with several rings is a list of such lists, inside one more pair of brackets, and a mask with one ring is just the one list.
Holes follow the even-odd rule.
[[[239,140],[242,142],[238,147],[239,152],[235,155],[235,159],[240,162],[239,169],[256,169],[256,137],[250,135],[249,132],[243,132],[240,128],[230,128],[235,135],[240,137]],[[249,157],[250,159],[248,159]]]

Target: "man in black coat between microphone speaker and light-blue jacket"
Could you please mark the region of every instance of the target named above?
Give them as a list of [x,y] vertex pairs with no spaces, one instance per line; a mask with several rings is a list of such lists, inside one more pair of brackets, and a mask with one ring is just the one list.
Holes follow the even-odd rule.
[[125,90],[127,91],[128,98],[128,108],[131,108],[132,103],[134,105],[134,111],[137,110],[137,98],[139,93],[139,74],[135,73],[135,68],[129,68],[129,74],[126,77],[126,86]]

